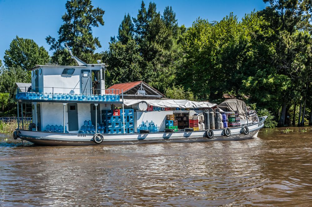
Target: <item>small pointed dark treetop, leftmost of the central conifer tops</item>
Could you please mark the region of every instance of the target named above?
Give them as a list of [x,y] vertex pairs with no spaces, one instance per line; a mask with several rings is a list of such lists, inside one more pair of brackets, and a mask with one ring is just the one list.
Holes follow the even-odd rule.
[[127,44],[129,40],[133,39],[134,35],[134,25],[132,23],[131,17],[128,15],[124,17],[118,28],[117,39],[124,45]]

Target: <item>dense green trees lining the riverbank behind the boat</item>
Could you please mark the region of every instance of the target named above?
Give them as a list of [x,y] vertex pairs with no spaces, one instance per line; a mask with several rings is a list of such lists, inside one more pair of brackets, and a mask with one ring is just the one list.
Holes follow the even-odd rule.
[[91,1],[67,1],[59,37],[46,38],[52,57],[33,40],[12,40],[0,65],[1,92],[29,82],[26,69],[35,64],[74,64],[67,43],[83,61],[108,64],[107,87],[143,80],[168,98],[220,103],[236,97],[256,103],[258,114],[269,116],[266,127],[312,125],[312,6],[303,0],[264,2],[264,10],[246,11],[242,19],[233,13],[221,21],[199,17],[186,28],[171,6],[160,12],[142,1],[136,16],[124,16],[109,49],[95,53],[101,44],[92,29],[104,25],[104,10]]

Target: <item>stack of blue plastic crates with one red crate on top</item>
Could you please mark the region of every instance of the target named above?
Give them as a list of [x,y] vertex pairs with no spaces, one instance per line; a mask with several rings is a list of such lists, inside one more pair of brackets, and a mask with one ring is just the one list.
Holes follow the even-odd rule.
[[[106,134],[134,133],[133,115],[134,115],[133,109],[125,109],[124,111],[122,111],[122,109],[102,110],[102,121],[105,125],[105,133]],[[123,125],[124,123],[125,125]]]

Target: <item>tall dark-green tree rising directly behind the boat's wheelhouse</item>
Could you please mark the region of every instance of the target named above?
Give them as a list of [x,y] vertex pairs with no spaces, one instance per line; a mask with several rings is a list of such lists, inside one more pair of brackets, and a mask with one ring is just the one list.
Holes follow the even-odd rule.
[[63,44],[71,48],[72,53],[87,63],[92,63],[92,54],[101,44],[97,37],[92,35],[92,27],[104,25],[104,11],[97,7],[93,8],[91,0],[70,0],[65,4],[67,13],[62,16],[64,24],[58,31],[58,40],[46,37],[47,43],[54,50],[52,61],[58,64],[72,64]]

